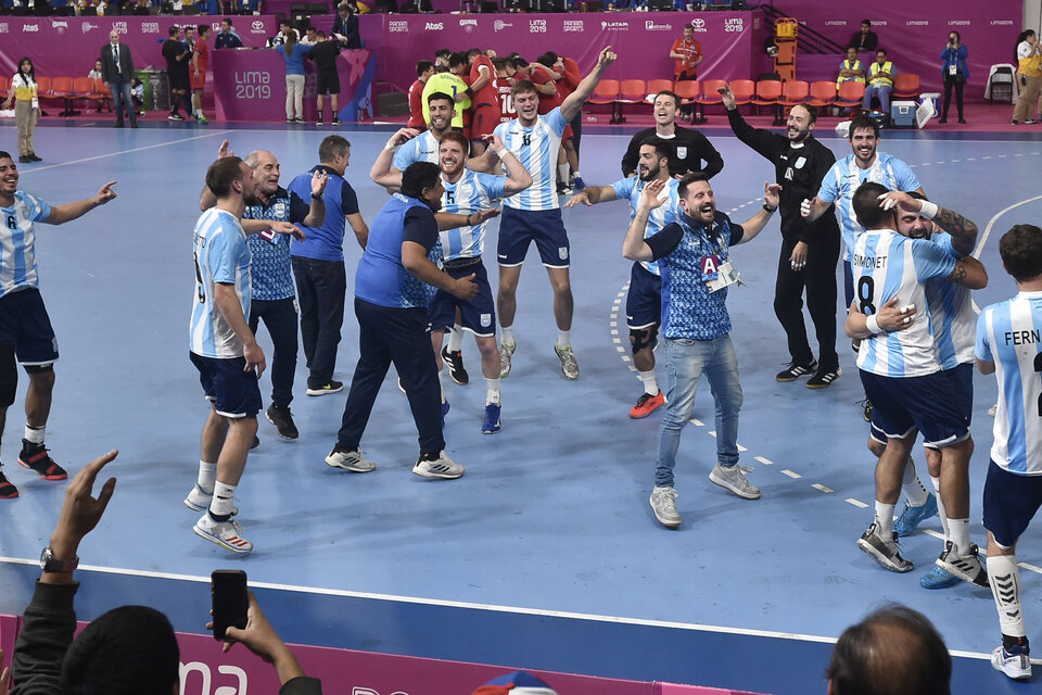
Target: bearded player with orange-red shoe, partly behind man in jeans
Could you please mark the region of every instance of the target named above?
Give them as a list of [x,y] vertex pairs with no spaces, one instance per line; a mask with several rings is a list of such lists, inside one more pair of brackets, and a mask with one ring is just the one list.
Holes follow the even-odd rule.
[[[593,186],[564,203],[572,207],[580,203],[594,205],[617,199],[630,201],[630,219],[637,214],[640,194],[648,181],[660,180],[666,184],[662,195],[668,198],[665,205],[651,211],[648,217],[645,238],[653,237],[663,227],[675,223],[679,214],[677,188],[679,180],[670,177],[670,152],[672,148],[664,140],[651,136],[640,146],[640,160],[637,174],[615,181],[611,186]],[[659,389],[655,378],[655,348],[658,344],[659,323],[662,320],[662,278],[659,264],[653,261],[635,262],[630,271],[630,290],[626,292],[626,327],[630,329],[630,348],[633,351],[633,366],[644,384],[644,393],[636,405],[630,408],[630,417],[645,418],[665,403],[665,395]]]

